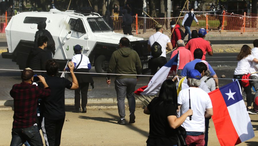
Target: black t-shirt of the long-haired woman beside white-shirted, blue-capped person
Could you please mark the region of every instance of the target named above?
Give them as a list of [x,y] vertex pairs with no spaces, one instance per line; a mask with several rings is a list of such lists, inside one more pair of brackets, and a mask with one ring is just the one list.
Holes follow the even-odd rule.
[[169,126],[167,117],[176,116],[176,107],[165,104],[160,98],[155,97],[147,106],[150,111],[150,132],[146,143],[150,145],[176,145],[176,130]]

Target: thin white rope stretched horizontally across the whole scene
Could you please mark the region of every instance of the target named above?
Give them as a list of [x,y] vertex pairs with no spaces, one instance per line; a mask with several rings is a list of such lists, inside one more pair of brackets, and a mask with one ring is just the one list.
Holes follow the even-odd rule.
[[[23,70],[11,70],[11,69],[0,69],[0,70],[9,70],[9,71],[23,71]],[[34,72],[46,72],[41,70],[33,70]],[[63,72],[62,72],[63,73]],[[64,72],[64,73],[71,73],[71,72]],[[91,72],[74,72],[77,74],[102,74],[105,75],[106,73],[91,73]],[[138,75],[138,74],[109,74],[109,75],[118,75],[118,76],[153,76],[153,75]],[[175,77],[175,76],[168,76],[168,77]],[[183,76],[177,76],[178,78],[184,78]],[[224,80],[236,80],[234,78],[213,78],[213,79],[224,79]],[[239,79],[239,80],[252,80],[252,79]]]

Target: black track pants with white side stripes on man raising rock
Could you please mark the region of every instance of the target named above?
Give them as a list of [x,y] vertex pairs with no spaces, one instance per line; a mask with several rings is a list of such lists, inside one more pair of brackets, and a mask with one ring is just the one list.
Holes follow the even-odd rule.
[[64,125],[64,118],[58,120],[46,119],[42,120],[42,132],[45,143],[48,146],[59,146],[61,141],[61,133]]

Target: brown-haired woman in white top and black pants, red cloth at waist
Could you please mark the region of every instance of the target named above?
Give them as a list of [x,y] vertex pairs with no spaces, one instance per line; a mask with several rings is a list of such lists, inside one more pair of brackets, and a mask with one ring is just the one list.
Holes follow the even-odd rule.
[[[239,84],[242,88],[243,84],[241,79],[245,74],[250,73],[249,69],[251,66],[252,62],[256,62],[258,63],[258,60],[253,57],[253,55],[251,54],[251,48],[248,45],[243,45],[240,53],[236,56],[236,60],[238,60],[237,62],[237,66],[236,69],[234,71],[234,79],[238,79]],[[245,83],[246,85],[243,86],[243,88],[245,89],[245,93],[246,93],[246,101],[247,101],[247,112],[249,114],[254,114],[256,115],[257,112],[254,111],[252,109],[252,91],[251,91],[251,87],[249,86],[249,82],[247,81]]]

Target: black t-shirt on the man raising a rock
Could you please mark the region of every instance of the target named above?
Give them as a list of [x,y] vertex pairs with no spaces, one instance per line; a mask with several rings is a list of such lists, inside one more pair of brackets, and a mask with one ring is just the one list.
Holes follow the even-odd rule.
[[65,117],[64,90],[70,89],[73,83],[66,78],[52,76],[46,78],[46,83],[51,89],[50,96],[43,98],[43,116],[47,119],[58,120]]

